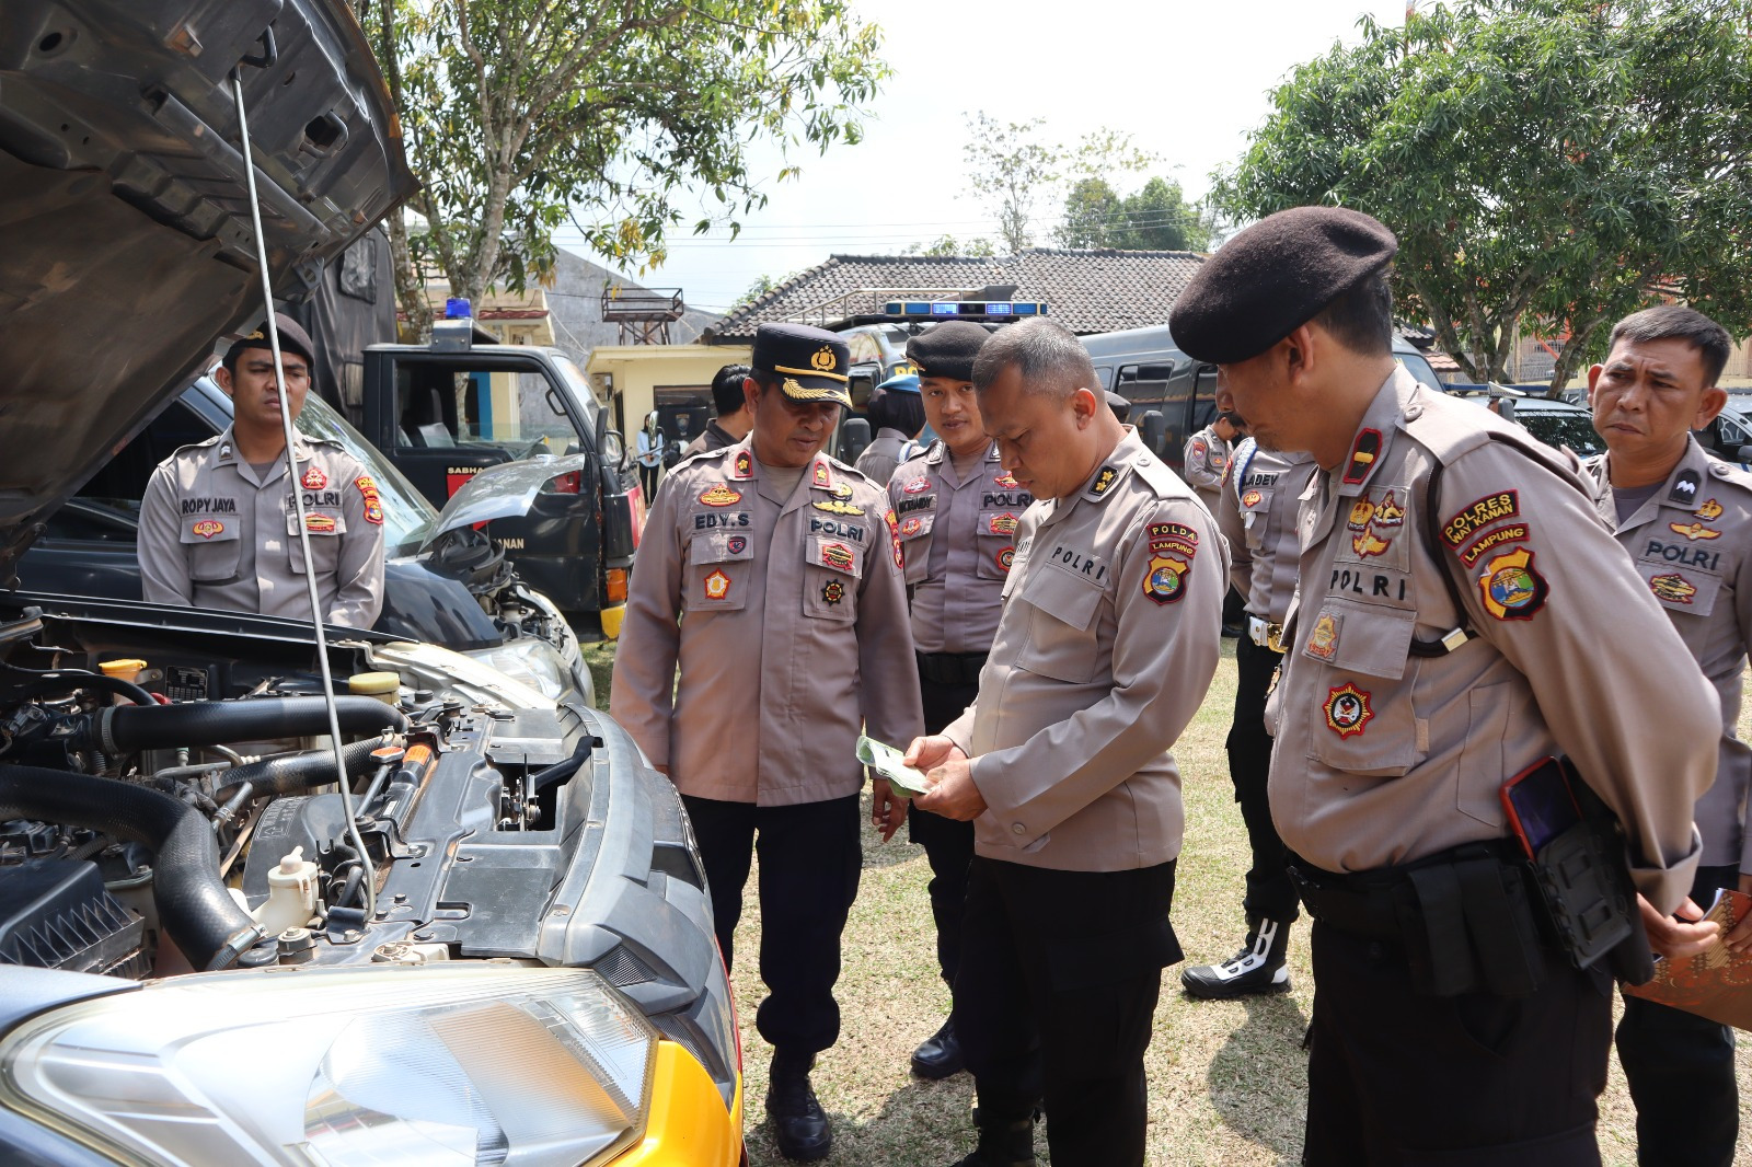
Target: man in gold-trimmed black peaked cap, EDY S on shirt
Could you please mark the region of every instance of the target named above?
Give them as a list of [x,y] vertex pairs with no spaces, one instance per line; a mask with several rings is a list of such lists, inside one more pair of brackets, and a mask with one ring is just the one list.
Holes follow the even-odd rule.
[[[839,1039],[858,731],[909,741],[918,673],[888,496],[820,452],[850,405],[844,340],[762,324],[748,401],[745,442],[689,459],[657,491],[610,713],[682,792],[725,962],[759,846],[766,1106],[780,1151],[813,1160],[832,1146],[809,1069]],[[876,803],[892,834],[906,803],[887,782]]]

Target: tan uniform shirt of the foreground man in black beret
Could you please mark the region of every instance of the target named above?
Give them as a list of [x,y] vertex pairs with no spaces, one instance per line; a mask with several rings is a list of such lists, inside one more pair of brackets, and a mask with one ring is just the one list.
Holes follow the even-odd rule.
[[[1507,838],[1503,780],[1566,753],[1624,824],[1638,888],[1671,911],[1701,850],[1691,808],[1715,774],[1715,694],[1580,473],[1398,368],[1303,501],[1268,711],[1289,850],[1368,871]],[[1461,624],[1477,636],[1454,652],[1412,652]]]

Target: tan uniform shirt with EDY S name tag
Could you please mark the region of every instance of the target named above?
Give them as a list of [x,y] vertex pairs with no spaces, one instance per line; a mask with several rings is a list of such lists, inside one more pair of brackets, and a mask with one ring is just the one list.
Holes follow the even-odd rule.
[[657,489],[610,713],[682,794],[857,794],[860,725],[902,748],[923,732],[888,496],[822,454],[787,496],[750,442]]

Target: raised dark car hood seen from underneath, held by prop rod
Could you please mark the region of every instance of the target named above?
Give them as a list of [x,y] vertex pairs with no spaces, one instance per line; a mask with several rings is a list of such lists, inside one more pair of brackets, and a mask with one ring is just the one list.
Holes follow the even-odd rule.
[[214,342],[265,315],[230,84],[245,58],[270,279],[298,300],[413,191],[343,0],[5,4],[0,587]]

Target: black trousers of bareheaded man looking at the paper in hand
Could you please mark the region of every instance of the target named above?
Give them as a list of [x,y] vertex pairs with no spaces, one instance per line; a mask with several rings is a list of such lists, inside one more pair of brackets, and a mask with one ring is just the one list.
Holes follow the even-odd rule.
[[1141,1167],[1144,1050],[1162,969],[1174,864],[1048,871],[976,855],[955,1027],[981,1118],[1046,1106],[1055,1167]]

